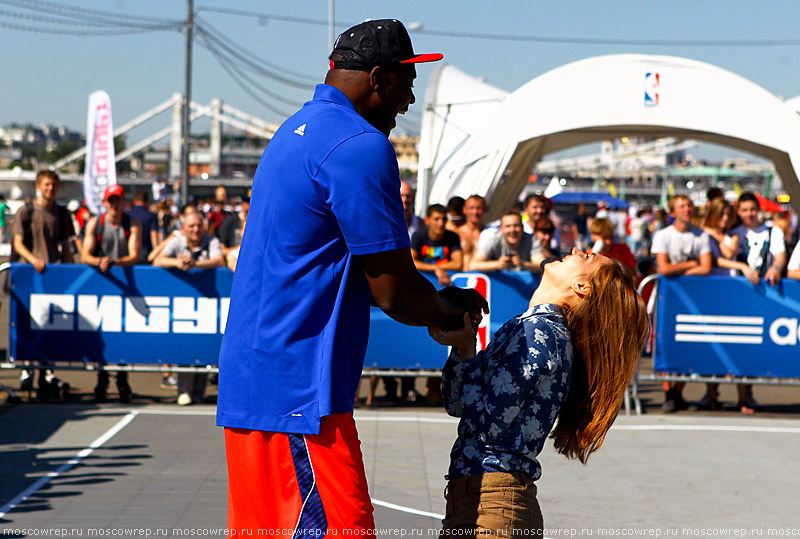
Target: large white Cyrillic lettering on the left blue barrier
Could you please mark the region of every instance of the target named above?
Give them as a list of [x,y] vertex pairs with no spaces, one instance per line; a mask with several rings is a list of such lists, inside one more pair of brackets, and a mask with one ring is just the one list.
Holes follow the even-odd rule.
[[230,298],[81,294],[76,310],[75,295],[31,294],[29,305],[33,330],[213,335],[225,332]]

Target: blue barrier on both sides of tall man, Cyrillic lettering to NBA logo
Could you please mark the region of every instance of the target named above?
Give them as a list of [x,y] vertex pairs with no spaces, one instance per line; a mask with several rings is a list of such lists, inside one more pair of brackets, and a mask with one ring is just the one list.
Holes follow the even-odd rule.
[[[14,362],[110,365],[216,365],[233,274],[216,270],[49,265],[36,273],[11,265],[9,356]],[[434,282],[432,276],[423,274]],[[479,330],[485,344],[527,309],[539,276],[528,272],[460,273],[453,284],[479,290],[491,314]],[[438,369],[446,348],[425,328],[395,322],[375,307],[365,367]]]

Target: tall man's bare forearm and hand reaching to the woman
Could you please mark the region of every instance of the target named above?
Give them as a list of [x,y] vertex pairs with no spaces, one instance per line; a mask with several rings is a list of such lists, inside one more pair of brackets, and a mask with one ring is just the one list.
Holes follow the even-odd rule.
[[477,325],[486,300],[474,290],[436,288],[414,267],[409,249],[395,249],[357,256],[364,268],[375,304],[390,317],[409,326],[439,326],[457,330],[464,325],[464,311]]

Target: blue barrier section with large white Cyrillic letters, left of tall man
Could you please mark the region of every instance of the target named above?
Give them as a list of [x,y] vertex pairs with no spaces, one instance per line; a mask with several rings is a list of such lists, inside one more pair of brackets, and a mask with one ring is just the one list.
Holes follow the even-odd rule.
[[11,265],[14,361],[214,365],[233,273]]

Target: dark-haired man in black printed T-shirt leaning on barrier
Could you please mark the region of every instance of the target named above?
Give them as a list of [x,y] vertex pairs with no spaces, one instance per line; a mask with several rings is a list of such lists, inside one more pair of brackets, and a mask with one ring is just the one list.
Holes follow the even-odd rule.
[[441,204],[428,208],[425,218],[427,228],[417,230],[411,236],[411,258],[419,271],[436,274],[439,285],[449,286],[447,270],[461,271],[463,257],[458,234],[445,230],[447,209]]

